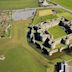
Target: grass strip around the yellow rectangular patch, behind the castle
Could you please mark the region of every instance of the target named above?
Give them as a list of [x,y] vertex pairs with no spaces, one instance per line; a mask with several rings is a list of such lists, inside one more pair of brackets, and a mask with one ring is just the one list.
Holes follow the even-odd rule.
[[[49,9],[49,8],[46,8],[46,9]],[[42,10],[46,10],[46,9],[42,9]],[[37,10],[37,13],[33,19],[33,23],[32,24],[39,24],[43,21],[50,21],[52,19],[56,19],[56,18],[59,18],[59,17],[65,17],[67,18],[68,20],[72,20],[72,14],[69,13],[69,12],[66,12],[65,10],[63,9],[59,9],[59,8],[56,8],[55,11],[57,12],[56,15],[47,15],[47,16],[39,16],[38,12],[39,12],[39,9]]]

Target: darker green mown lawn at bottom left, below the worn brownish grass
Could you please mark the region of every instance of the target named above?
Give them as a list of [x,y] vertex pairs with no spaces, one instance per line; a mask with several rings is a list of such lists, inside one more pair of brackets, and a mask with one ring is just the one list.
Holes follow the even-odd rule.
[[24,47],[15,46],[11,46],[11,49],[7,48],[8,51],[4,54],[6,60],[0,61],[1,72],[46,72],[46,68],[37,62]]

